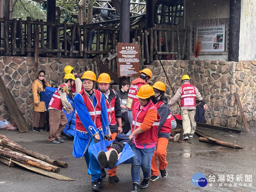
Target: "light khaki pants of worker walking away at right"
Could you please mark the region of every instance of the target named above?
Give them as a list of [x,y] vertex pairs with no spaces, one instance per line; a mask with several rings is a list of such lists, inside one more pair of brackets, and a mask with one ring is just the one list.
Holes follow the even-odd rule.
[[181,110],[182,127],[184,134],[193,134],[196,128],[196,122],[194,120],[195,110]]

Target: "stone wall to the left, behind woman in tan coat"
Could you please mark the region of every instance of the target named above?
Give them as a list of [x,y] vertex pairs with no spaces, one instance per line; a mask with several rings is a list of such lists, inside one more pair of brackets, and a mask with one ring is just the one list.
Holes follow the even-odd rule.
[[[87,59],[75,58],[39,58],[41,70],[45,71],[47,81],[51,87],[63,82],[64,67],[71,65],[76,72],[84,71],[85,65],[90,66]],[[32,82],[37,76],[33,74],[34,57],[0,57],[0,76],[6,87],[12,93],[17,106],[24,115],[28,125],[33,120]],[[0,95],[0,117],[11,120],[6,104]]]

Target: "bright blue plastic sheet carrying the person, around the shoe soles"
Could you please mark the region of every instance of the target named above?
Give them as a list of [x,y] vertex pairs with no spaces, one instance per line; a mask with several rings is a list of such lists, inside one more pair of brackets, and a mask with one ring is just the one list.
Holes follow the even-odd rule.
[[[97,159],[97,154],[99,151],[103,150],[104,152],[107,151],[106,147],[111,144],[112,140],[101,140],[95,144],[92,144],[91,146],[89,146],[90,151],[92,152],[92,154],[95,156],[95,158]],[[123,164],[123,163],[131,163],[131,157],[134,156],[134,152],[133,150],[130,148],[130,145],[128,145],[128,143],[124,144],[124,147],[122,149],[121,155],[118,159],[118,161],[116,162],[115,165],[118,164]],[[109,169],[109,168],[107,168]]]

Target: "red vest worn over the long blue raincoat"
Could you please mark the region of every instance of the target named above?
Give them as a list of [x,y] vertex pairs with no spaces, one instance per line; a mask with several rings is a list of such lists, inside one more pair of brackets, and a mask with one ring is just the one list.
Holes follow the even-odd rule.
[[[100,105],[101,92],[94,89],[94,96],[97,100],[97,103],[96,103],[95,107],[91,103],[88,95],[84,92],[84,90],[81,90],[79,92],[79,94],[81,94],[81,96],[83,98],[83,101],[84,101],[84,104],[85,104],[85,106],[88,109],[88,112],[90,114],[90,118],[93,121],[93,123],[95,124],[96,128],[97,129],[101,128],[101,118],[100,118],[100,114],[101,114],[101,105]],[[80,120],[77,113],[75,114],[75,128],[76,128],[76,130],[87,132],[87,130],[82,125],[81,120]]]

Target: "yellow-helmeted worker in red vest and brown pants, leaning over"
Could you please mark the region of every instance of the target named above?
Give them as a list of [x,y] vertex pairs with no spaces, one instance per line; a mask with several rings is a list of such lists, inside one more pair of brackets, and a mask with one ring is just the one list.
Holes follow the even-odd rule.
[[64,76],[65,83],[61,84],[53,93],[49,101],[49,136],[48,143],[59,144],[64,142],[63,139],[59,137],[61,131],[67,123],[66,113],[72,112],[73,108],[71,104],[66,99],[66,94],[68,94],[68,87],[72,86],[74,83],[74,75],[67,73]]

